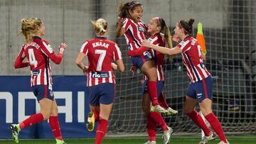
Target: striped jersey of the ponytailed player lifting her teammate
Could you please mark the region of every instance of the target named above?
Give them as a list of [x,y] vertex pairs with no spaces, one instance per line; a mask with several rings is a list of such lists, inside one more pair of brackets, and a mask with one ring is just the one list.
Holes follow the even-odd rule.
[[[149,41],[154,45],[159,45],[161,47],[165,46],[164,40],[161,37],[161,35],[156,34],[152,35],[149,38]],[[163,65],[164,65],[164,54],[161,52],[158,52],[156,50],[151,49],[151,55],[154,57],[154,61],[156,62],[156,72],[157,72],[157,80],[158,81],[164,81],[164,71],[163,71]],[[144,79],[147,79],[145,76]]]

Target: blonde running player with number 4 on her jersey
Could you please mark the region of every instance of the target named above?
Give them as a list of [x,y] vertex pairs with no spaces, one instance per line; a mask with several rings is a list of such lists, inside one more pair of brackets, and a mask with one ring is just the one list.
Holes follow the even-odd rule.
[[[48,41],[41,39],[45,34],[45,26],[39,18],[21,19],[20,34],[25,36],[26,42],[21,47],[14,67],[17,69],[30,66],[31,87],[33,94],[35,94],[39,102],[41,112],[33,114],[21,123],[11,124],[10,129],[14,142],[18,143],[18,133],[23,128],[49,119],[50,128],[53,130],[56,143],[64,144],[58,122],[58,107],[53,96],[50,60],[59,65],[67,45],[61,43],[60,51],[56,55]],[[27,57],[28,61],[23,61],[25,57]]]

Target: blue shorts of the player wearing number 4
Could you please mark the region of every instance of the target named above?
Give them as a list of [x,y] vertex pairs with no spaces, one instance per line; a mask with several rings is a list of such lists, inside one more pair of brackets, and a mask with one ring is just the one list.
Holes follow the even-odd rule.
[[32,90],[38,102],[43,98],[54,99],[53,89],[48,89],[47,85],[35,85]]

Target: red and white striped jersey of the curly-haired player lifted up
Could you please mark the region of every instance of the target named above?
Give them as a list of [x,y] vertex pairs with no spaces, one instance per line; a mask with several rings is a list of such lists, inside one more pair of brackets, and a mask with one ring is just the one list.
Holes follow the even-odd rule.
[[145,40],[144,32],[147,30],[145,23],[143,21],[135,23],[130,18],[125,18],[123,28],[125,29],[124,37],[127,41],[128,49],[139,48],[142,40]]

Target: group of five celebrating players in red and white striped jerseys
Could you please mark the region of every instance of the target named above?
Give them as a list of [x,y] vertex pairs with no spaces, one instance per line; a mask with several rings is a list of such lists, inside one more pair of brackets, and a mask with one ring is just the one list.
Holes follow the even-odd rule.
[[[168,26],[163,18],[151,18],[149,24],[141,20],[143,13],[142,4],[131,1],[119,6],[116,35],[124,35],[129,49],[133,74],[137,69],[145,75],[143,84],[142,109],[146,113],[146,128],[149,140],[144,144],[156,143],[156,126],[163,131],[163,143],[169,143],[173,129],[166,125],[160,113],[178,113],[166,104],[162,91],[164,87],[164,55],[181,53],[183,65],[186,67],[188,77],[191,79],[186,93],[183,107],[184,113],[203,130],[205,137],[199,144],[208,143],[209,140],[220,138],[220,144],[228,143],[223,129],[214,115],[212,106],[213,79],[203,64],[206,59],[202,54],[198,41],[191,36],[193,18],[189,21],[178,21],[175,34],[171,37]],[[107,21],[99,18],[91,21],[95,31],[95,38],[86,40],[82,44],[75,62],[87,74],[87,87],[90,94],[90,113],[88,114],[87,130],[93,131],[95,122],[98,121],[95,144],[102,143],[107,132],[108,119],[112,110],[115,97],[115,79],[112,70],[124,71],[122,53],[117,43],[107,40]],[[11,124],[10,130],[14,142],[18,143],[18,133],[23,128],[49,119],[56,144],[64,144],[58,123],[58,107],[53,96],[50,60],[60,64],[63,52],[67,45],[62,43],[59,53],[55,54],[48,41],[42,40],[45,33],[43,21],[39,18],[23,18],[21,20],[21,35],[26,42],[16,58],[14,67],[31,68],[31,88],[40,104],[41,112],[33,114],[18,124]],[[149,35],[146,40],[145,35]],[[172,48],[172,40],[178,45]],[[167,46],[167,48],[165,48]],[[27,57],[27,60],[24,60]],[[88,57],[88,66],[83,64],[83,59]],[[114,62],[112,62],[114,60]],[[201,115],[195,110],[196,104],[213,131],[210,131]]]

